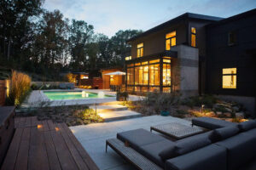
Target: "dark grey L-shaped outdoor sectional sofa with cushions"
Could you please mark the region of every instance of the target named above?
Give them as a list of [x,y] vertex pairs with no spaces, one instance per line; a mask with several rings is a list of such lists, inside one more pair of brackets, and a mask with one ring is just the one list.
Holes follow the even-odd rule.
[[256,169],[256,121],[227,123],[177,141],[142,128],[117,133],[117,139],[166,170]]

